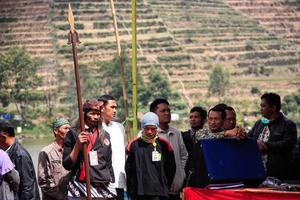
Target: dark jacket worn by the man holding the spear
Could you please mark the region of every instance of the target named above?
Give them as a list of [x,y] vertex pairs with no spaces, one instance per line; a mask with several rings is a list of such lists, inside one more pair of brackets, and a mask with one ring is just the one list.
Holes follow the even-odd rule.
[[[110,144],[109,134],[106,133],[101,128],[98,128],[99,135],[93,145],[92,150],[97,151],[98,165],[90,166],[90,177],[91,184],[99,183],[109,183],[114,182],[114,173],[112,168],[112,150]],[[83,162],[83,153],[79,154],[77,162],[73,162],[70,158],[70,153],[72,152],[77,136],[76,129],[71,129],[65,138],[64,141],[64,153],[63,153],[63,166],[65,169],[72,171],[72,175],[75,176],[75,179],[79,181],[80,168]],[[103,141],[101,141],[103,140]]]

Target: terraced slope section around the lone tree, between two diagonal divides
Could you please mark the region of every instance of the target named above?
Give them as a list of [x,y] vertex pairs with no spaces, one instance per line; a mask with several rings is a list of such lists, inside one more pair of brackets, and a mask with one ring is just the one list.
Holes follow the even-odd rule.
[[[299,88],[299,45],[292,43],[292,38],[287,41],[237,12],[228,2],[148,0],[175,40],[194,60],[193,68],[174,72],[193,102],[207,99],[207,76],[204,74],[215,64],[226,67],[231,73],[228,97],[235,97],[233,104],[243,105],[257,99],[251,95],[253,87],[282,95]],[[260,4],[256,5],[259,9]]]

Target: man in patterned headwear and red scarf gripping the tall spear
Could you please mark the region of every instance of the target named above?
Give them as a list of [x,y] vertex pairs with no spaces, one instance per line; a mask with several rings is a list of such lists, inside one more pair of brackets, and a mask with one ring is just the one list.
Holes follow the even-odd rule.
[[91,197],[93,199],[115,200],[116,190],[112,168],[110,137],[102,128],[100,111],[103,102],[87,100],[83,104],[85,131],[78,124],[66,135],[64,141],[63,166],[71,170],[68,185],[68,199],[86,199],[86,175],[82,145],[87,144]]

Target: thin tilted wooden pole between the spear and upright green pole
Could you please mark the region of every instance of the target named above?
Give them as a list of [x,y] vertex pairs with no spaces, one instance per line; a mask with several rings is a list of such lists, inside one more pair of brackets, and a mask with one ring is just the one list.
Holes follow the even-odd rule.
[[126,127],[126,132],[128,134],[127,139],[131,139],[130,127],[128,126],[128,123],[127,123],[127,118],[128,118],[128,97],[127,97],[127,92],[126,92],[125,70],[124,70],[124,65],[123,65],[123,61],[122,61],[122,49],[121,49],[121,44],[120,44],[117,17],[116,17],[115,5],[114,5],[113,0],[110,0],[110,7],[111,7],[111,14],[112,14],[112,17],[113,17],[115,38],[116,38],[117,49],[118,49],[118,61],[119,61],[120,72],[121,72],[120,76],[121,76],[121,83],[122,83],[122,92],[123,92],[124,109],[125,109],[125,121],[126,121],[126,126],[125,127]]

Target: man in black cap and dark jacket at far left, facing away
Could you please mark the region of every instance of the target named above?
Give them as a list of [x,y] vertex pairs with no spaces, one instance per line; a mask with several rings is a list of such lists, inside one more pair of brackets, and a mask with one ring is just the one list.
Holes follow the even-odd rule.
[[0,148],[7,152],[20,175],[16,200],[39,200],[39,189],[32,159],[27,150],[15,139],[14,128],[0,124]]

